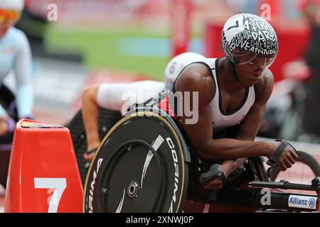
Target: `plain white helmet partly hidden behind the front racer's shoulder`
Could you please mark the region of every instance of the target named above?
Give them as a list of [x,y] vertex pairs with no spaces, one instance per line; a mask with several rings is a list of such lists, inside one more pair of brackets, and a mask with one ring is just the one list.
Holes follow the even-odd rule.
[[206,60],[206,57],[199,55],[196,52],[184,52],[172,58],[164,70],[166,89],[172,89],[178,74],[180,74],[184,67],[192,62],[201,62],[203,60]]

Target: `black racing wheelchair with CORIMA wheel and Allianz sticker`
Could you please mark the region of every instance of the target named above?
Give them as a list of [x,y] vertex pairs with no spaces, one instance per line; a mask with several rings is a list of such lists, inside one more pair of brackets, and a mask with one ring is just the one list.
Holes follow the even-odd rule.
[[[250,158],[245,166],[226,179],[223,189],[203,189],[201,176],[215,164],[198,155],[183,129],[156,103],[149,100],[142,106],[132,106],[122,118],[117,112],[101,114],[105,110],[100,110],[100,122],[103,114],[109,114],[107,126],[100,129],[101,137],[104,132],[107,135],[103,137],[90,167],[82,158],[85,135],[71,130],[77,117],[70,122],[82,182],[85,182],[83,211],[269,212],[319,209],[316,196],[278,190],[304,189],[319,194],[319,177],[314,178],[310,185],[284,180],[273,182],[270,177],[272,168],[265,171],[262,157]],[[77,121],[79,119],[80,114]],[[79,152],[77,148],[80,147],[82,151]]]

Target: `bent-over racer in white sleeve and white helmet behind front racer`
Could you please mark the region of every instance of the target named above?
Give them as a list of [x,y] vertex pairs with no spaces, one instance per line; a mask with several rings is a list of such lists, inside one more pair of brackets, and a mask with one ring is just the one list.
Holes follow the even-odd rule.
[[[185,52],[172,58],[164,70],[165,82],[151,80],[129,83],[104,83],[86,87],[82,95],[82,117],[87,135],[85,159],[92,160],[100,145],[98,134],[98,108],[122,111],[134,103],[142,103],[150,96],[157,96],[161,90],[172,89],[178,74],[192,62],[201,62],[206,57],[195,52]],[[128,101],[128,99],[130,99]],[[139,99],[139,100],[138,100]]]

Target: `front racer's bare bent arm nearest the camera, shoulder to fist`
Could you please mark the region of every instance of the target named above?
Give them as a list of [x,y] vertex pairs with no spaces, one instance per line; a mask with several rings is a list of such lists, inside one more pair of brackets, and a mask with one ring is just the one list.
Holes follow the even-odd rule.
[[[181,72],[176,81],[176,91],[198,92],[198,122],[186,123],[187,116],[183,115],[183,128],[198,153],[206,160],[235,160],[238,157],[256,157],[259,155],[270,157],[279,146],[279,142],[242,141],[235,139],[213,140],[213,126],[209,103],[215,94],[215,83],[208,70],[201,64],[192,64]],[[183,99],[186,93],[183,93]],[[191,104],[192,105],[192,104]],[[189,117],[190,118],[190,117]],[[282,153],[285,165],[289,167],[294,163],[295,157],[288,150]],[[286,150],[285,150],[286,151]],[[290,157],[287,157],[289,155]],[[294,154],[295,155],[295,154]],[[294,156],[293,155],[293,156]]]

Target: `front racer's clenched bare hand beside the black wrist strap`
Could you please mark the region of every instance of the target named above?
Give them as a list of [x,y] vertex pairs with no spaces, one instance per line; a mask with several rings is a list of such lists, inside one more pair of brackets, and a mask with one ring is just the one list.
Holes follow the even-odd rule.
[[[268,155],[269,158],[272,156],[274,151],[277,150],[280,143],[281,142],[270,142],[271,152]],[[279,163],[279,167],[281,167],[281,170],[285,171],[288,168],[292,167],[292,165],[294,165],[297,158],[298,158],[298,155],[294,152],[294,150],[292,150],[292,148],[290,148],[289,146],[286,146],[284,148],[284,151],[279,156],[277,162]]]

